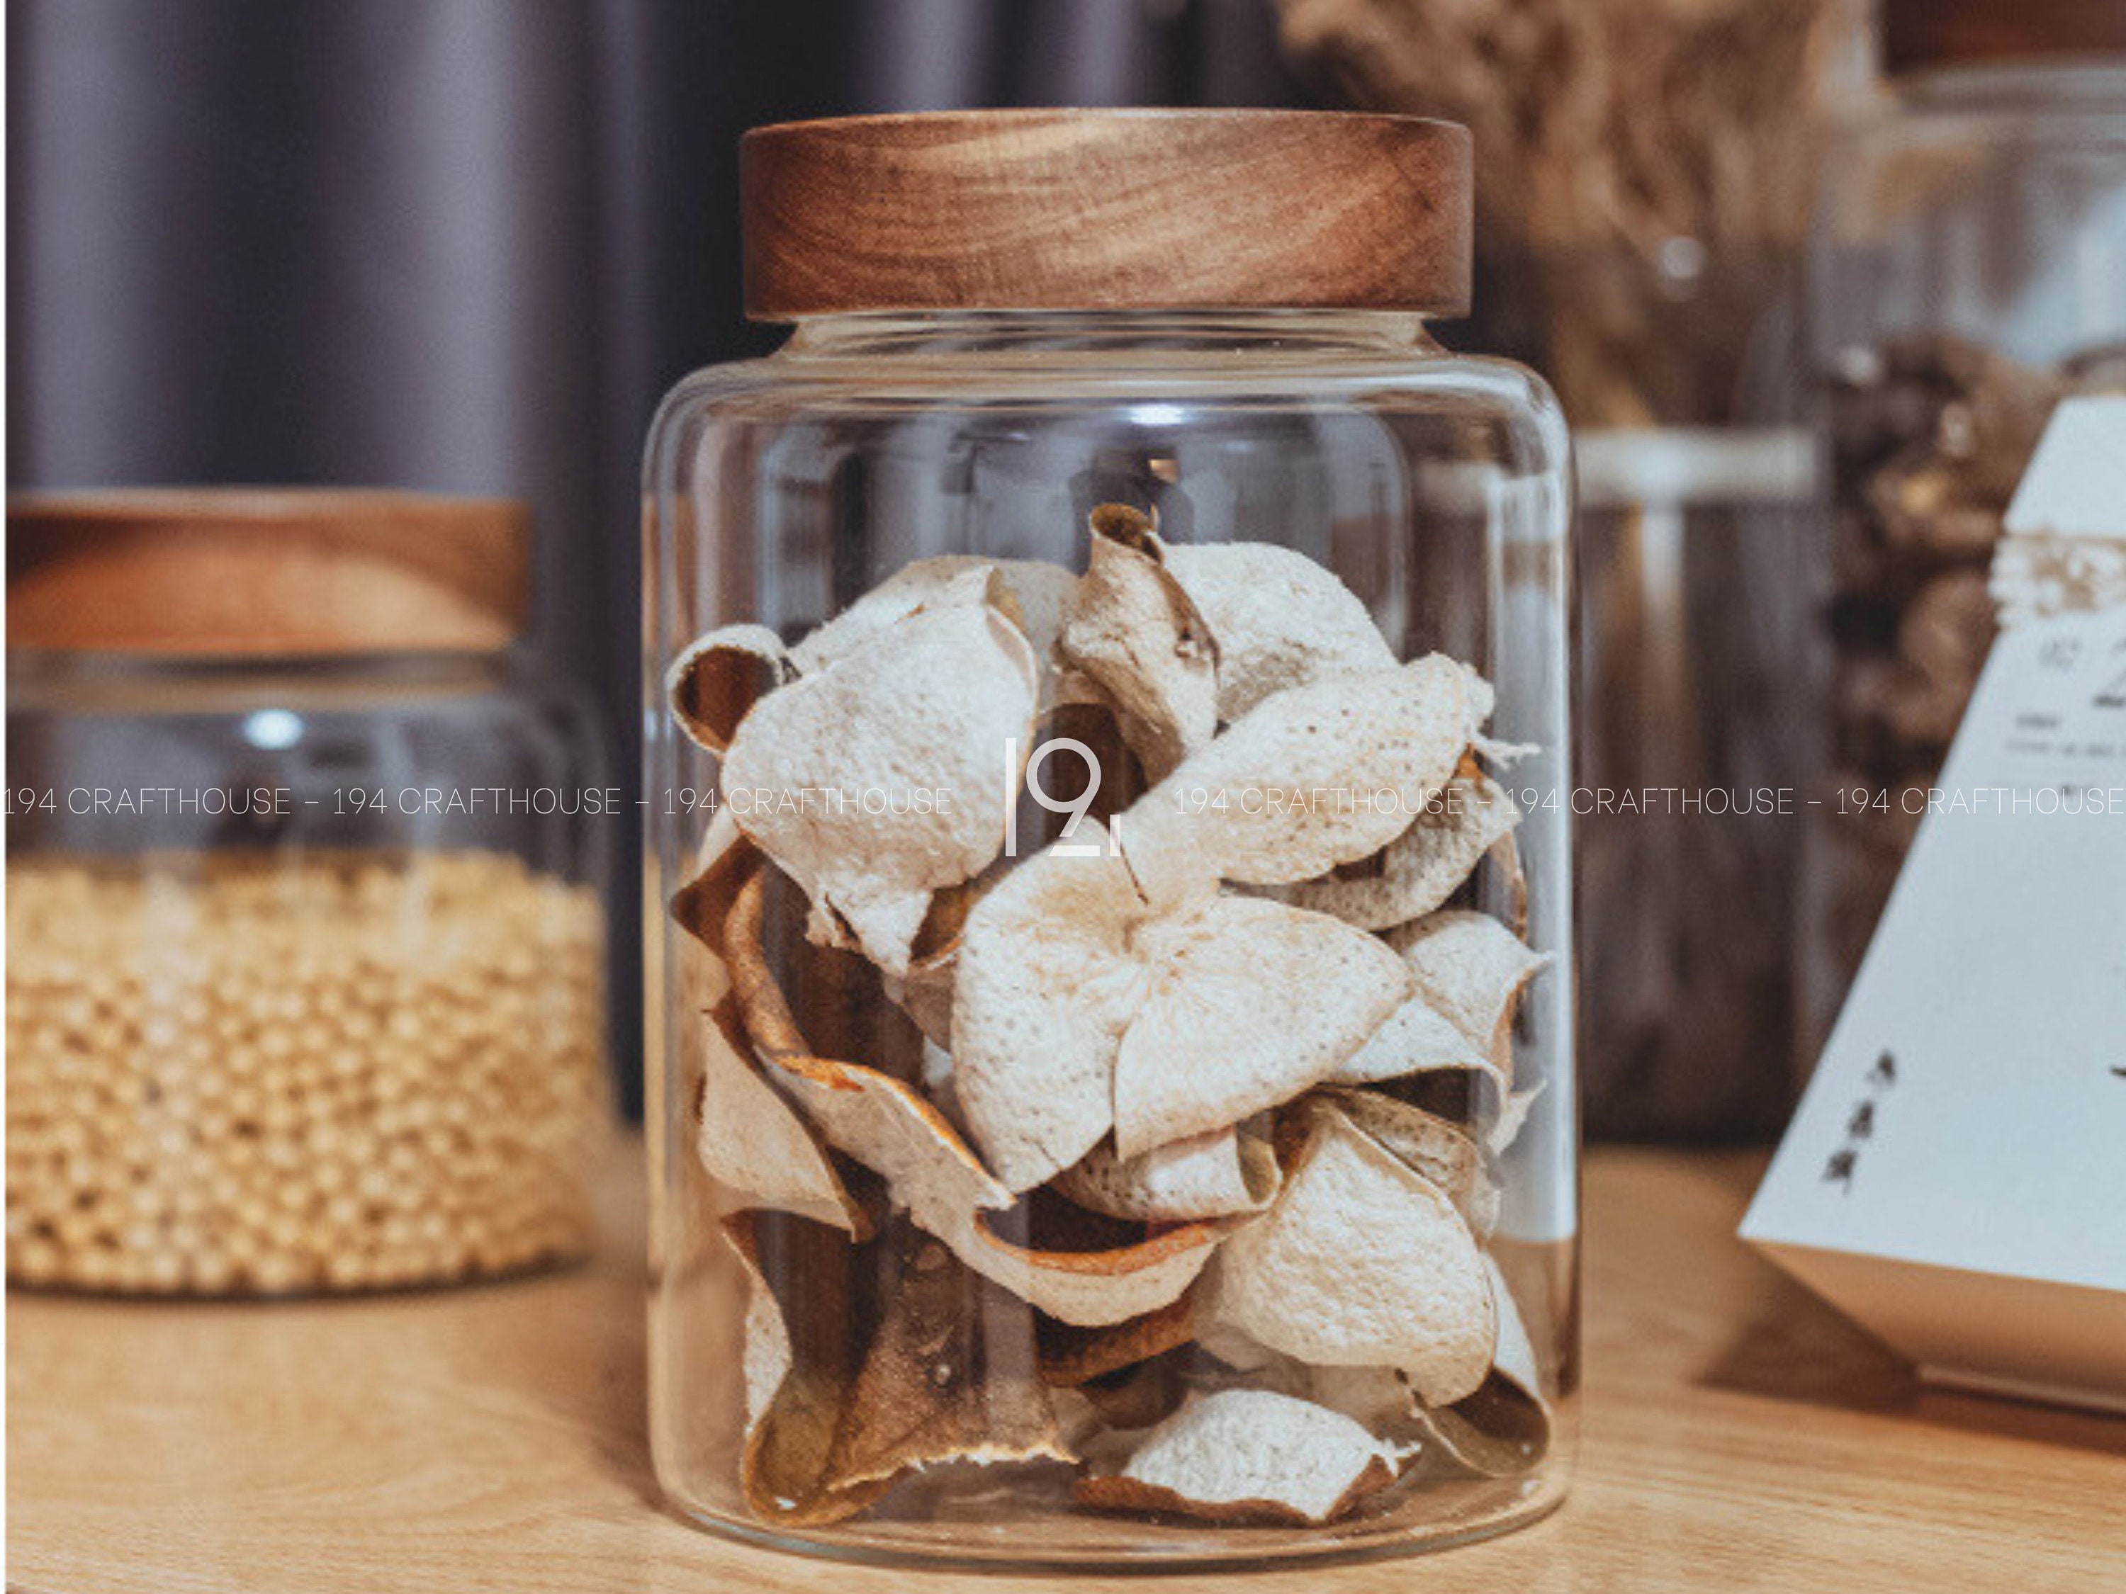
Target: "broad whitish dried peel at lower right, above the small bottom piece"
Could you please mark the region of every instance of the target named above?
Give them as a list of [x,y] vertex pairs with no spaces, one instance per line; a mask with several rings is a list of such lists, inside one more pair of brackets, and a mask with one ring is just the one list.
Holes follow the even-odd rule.
[[1327,1367],[1399,1367],[1433,1405],[1490,1369],[1497,1316],[1454,1203],[1322,1109],[1267,1214],[1218,1254],[1214,1316]]

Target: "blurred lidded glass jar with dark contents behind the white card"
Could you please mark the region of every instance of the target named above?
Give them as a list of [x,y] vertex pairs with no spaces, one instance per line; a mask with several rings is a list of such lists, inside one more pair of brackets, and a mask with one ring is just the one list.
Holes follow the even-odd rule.
[[1807,1054],[1992,646],[2003,516],[2054,404],[2126,383],[2126,6],[1899,0],[1826,166],[1809,366],[1833,680],[1799,937]]

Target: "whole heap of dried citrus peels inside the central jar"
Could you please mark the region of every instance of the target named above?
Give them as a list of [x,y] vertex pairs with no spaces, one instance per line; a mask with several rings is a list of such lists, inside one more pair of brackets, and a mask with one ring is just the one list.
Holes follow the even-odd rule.
[[[1478,1146],[1503,1148],[1533,1097],[1509,1090],[1512,1022],[1541,961],[1503,927],[1437,912],[1486,852],[1518,874],[1518,812],[1475,759],[1514,752],[1482,735],[1490,686],[1441,657],[1397,665],[1359,599],[1282,548],[1167,548],[1142,516],[1103,510],[1089,563],[1078,578],[921,561],[787,655],[765,633],[716,638],[691,663],[685,710],[674,701],[710,750],[736,740],[733,793],[731,752],[753,780],[831,784],[846,748],[823,703],[865,725],[874,689],[895,680],[876,703],[923,733],[870,725],[908,754],[893,774],[965,776],[969,748],[991,740],[995,769],[940,784],[955,799],[993,788],[995,840],[1018,799],[1001,725],[1031,733],[1063,703],[1042,723],[1059,735],[1091,714],[1106,776],[1093,833],[1072,837],[1093,840],[1093,857],[1069,869],[1050,850],[997,857],[995,842],[955,852],[965,812],[899,852],[823,840],[819,814],[782,823],[731,803],[674,901],[697,937],[680,948],[680,988],[714,1007],[729,984],[704,1020],[714,1058],[699,1103],[704,1129],[733,1129],[704,1135],[702,1158],[738,1199],[784,1203],[748,1220],[797,1226],[842,1258],[833,1299],[791,1299],[789,1320],[776,1299],[789,1273],[748,1265],[742,1481],[765,1522],[840,1520],[935,1462],[1067,1458],[1042,1381],[1072,1386],[1054,1398],[1103,1428],[1086,1503],[1210,1520],[1327,1522],[1395,1477],[1399,1441],[1518,1445],[1516,1413],[1543,1415],[1533,1369],[1529,1384],[1505,1371],[1512,1301],[1475,1245],[1497,1207]],[[1010,714],[976,712],[967,729],[967,706],[912,663],[933,642],[961,697],[969,680],[1010,682]],[[927,735],[952,714],[957,729]],[[1133,754],[1165,774],[1152,791]],[[1310,801],[1320,786],[1365,801]],[[1290,801],[1250,814],[1250,788]],[[753,820],[744,837],[733,818]],[[1054,835],[1031,797],[1016,818],[1020,850]],[[872,965],[791,937],[804,1029],[761,948],[761,852],[810,899],[806,935]],[[795,925],[795,908],[778,897],[776,925]],[[1388,942],[1369,933],[1390,927]],[[1488,1082],[1471,1129],[1412,1105],[1461,1116],[1444,1080],[1388,1084],[1410,1101],[1356,1088],[1444,1071]],[[829,1146],[876,1173],[906,1220],[887,1222]],[[838,1167],[887,1239],[853,1250],[829,1228],[867,1216],[816,1186]],[[1035,1335],[1010,1322],[1031,1328],[1029,1307],[1037,1367]],[[1248,1371],[1218,1371],[1191,1337]],[[1227,1388],[1174,1409],[1205,1384]],[[1237,1422],[1214,1401],[1254,1411]],[[1159,1426],[1123,1458],[1114,1426],[1144,1422]],[[1322,1443],[1265,1447],[1280,1424]],[[1524,1449],[1469,1464],[1522,1466]]]

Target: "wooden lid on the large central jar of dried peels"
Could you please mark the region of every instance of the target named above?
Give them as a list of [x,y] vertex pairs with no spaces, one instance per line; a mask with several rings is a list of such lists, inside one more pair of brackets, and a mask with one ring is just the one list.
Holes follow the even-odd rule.
[[1324,111],[755,128],[746,315],[1469,310],[1469,130]]

